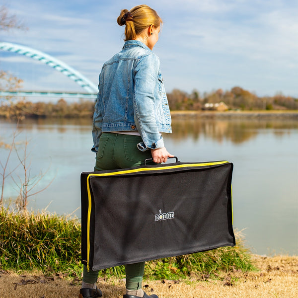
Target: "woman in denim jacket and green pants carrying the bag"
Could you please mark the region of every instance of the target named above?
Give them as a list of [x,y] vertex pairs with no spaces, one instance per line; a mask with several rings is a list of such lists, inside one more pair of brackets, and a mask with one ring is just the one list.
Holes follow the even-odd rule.
[[[92,130],[96,171],[139,166],[146,158],[162,163],[173,157],[161,136],[171,133],[171,116],[159,59],[152,52],[162,21],[155,10],[139,5],[123,9],[117,22],[125,25],[125,44],[99,75]],[[144,267],[145,262],[125,266],[123,298],[158,298],[142,290]],[[97,276],[98,271],[88,272],[84,266],[80,298],[102,296]]]

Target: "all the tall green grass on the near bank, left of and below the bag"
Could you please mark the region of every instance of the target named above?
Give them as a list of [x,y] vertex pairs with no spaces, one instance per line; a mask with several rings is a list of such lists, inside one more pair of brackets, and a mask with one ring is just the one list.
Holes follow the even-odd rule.
[[[81,274],[80,222],[66,216],[43,213],[11,212],[0,209],[0,269],[15,271],[40,270],[77,277]],[[241,235],[235,247],[164,258],[147,263],[145,278],[178,280],[217,278],[221,274],[254,270],[249,251]],[[102,270],[105,278],[123,278],[124,266]]]

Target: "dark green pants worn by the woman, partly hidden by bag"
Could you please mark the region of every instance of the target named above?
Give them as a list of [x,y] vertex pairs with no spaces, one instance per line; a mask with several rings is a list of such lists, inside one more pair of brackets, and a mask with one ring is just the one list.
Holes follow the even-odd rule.
[[[140,142],[142,142],[140,136],[103,133],[100,136],[94,169],[96,171],[113,170],[144,164],[146,158],[151,158],[151,152],[150,150],[140,151],[137,148],[137,144]],[[100,231],[96,232],[100,233]],[[125,266],[126,289],[141,289],[144,268],[145,262]],[[97,277],[98,271],[89,270],[88,272],[84,265],[83,282],[96,283]]]

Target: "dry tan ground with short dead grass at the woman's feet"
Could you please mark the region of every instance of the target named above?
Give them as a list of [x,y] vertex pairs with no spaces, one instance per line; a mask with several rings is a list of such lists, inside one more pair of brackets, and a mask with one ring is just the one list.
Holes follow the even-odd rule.
[[[298,298],[298,256],[254,256],[258,271],[227,274],[224,279],[144,281],[143,289],[159,298]],[[125,283],[99,280],[103,298],[123,298]],[[80,281],[63,275],[17,274],[0,270],[0,298],[77,298]]]

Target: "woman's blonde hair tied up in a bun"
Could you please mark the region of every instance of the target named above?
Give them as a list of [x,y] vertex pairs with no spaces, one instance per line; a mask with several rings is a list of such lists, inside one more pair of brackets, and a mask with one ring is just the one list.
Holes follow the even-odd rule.
[[124,41],[136,39],[136,37],[150,25],[156,28],[162,23],[157,12],[148,5],[138,5],[131,10],[122,9],[117,18],[117,23],[120,26],[125,25]]

